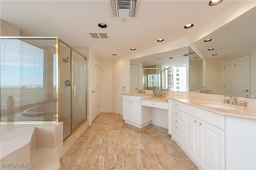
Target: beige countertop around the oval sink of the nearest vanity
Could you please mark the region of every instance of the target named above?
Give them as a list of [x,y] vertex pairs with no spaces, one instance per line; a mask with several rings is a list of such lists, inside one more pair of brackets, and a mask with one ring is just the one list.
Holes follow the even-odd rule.
[[[256,108],[255,107],[240,107],[240,106],[234,106],[238,109],[221,109],[221,108],[214,108],[214,107],[207,107],[202,106],[200,103],[202,102],[209,102],[209,103],[218,103],[223,104],[222,102],[215,101],[215,100],[208,100],[203,98],[196,98],[192,96],[168,96],[167,99],[175,100],[184,104],[188,104],[191,106],[198,107],[200,109],[204,109],[207,111],[211,111],[220,115],[225,116],[232,116],[232,117],[241,117],[245,119],[256,119]],[[225,104],[227,106],[232,106],[231,104]]]

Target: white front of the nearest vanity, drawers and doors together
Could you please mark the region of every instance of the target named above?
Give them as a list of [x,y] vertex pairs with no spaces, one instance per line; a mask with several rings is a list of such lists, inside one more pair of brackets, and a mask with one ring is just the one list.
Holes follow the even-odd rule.
[[174,100],[169,104],[172,139],[199,169],[225,169],[225,116]]

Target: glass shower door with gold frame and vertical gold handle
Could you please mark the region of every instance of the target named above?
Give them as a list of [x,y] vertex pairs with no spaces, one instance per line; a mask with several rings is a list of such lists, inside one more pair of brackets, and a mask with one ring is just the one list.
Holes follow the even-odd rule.
[[72,128],[86,119],[86,57],[72,50]]

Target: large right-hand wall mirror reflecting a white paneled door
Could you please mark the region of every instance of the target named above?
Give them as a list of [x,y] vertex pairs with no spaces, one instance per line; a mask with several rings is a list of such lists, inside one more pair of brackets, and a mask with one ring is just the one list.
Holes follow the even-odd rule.
[[203,75],[194,74],[200,86],[190,85],[190,91],[205,86],[212,94],[256,97],[255,14],[256,7],[190,45],[190,63],[194,57],[203,60],[198,65]]

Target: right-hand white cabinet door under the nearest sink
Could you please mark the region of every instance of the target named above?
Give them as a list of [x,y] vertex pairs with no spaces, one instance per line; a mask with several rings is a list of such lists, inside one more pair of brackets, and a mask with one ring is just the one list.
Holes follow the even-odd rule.
[[203,169],[225,169],[225,131],[199,120],[200,166]]

